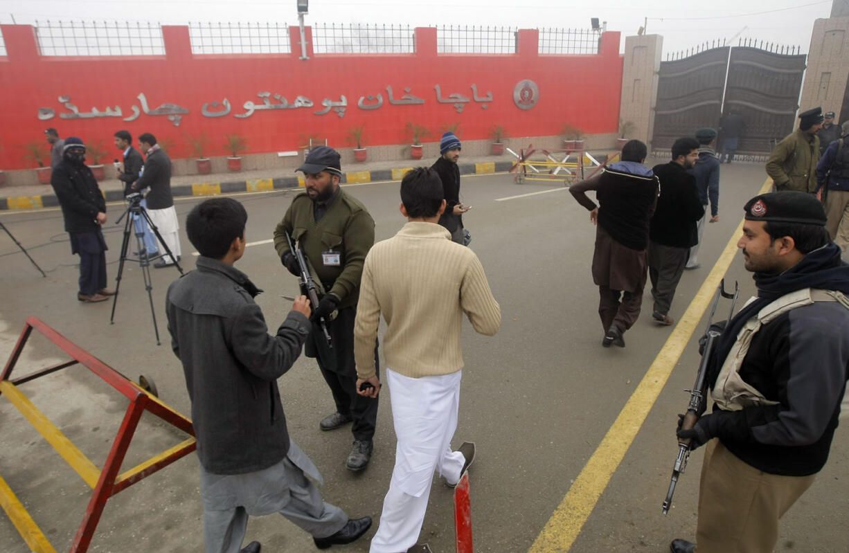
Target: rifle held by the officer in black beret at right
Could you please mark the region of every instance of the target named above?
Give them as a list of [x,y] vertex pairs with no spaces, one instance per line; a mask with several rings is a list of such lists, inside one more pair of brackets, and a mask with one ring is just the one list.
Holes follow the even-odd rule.
[[[707,366],[708,361],[711,359],[711,354],[713,353],[714,343],[722,333],[716,326],[713,325],[713,315],[717,311],[719,297],[722,296],[722,298],[731,300],[731,309],[728,311],[728,319],[725,321],[725,326],[728,327],[728,321],[731,321],[731,317],[734,316],[734,305],[737,304],[738,294],[739,286],[737,285],[737,282],[734,282],[734,293],[728,293],[725,291],[725,279],[723,278],[717,287],[717,293],[713,296],[711,316],[707,318],[705,334],[699,340],[700,346],[704,347],[704,349],[702,349],[701,362],[699,363],[699,373],[695,377],[693,389],[684,390],[685,392],[689,392],[690,399],[689,405],[687,405],[687,414],[683,416],[683,421],[681,422],[681,428],[683,430],[691,430],[707,408]],[[678,438],[678,456],[675,458],[675,465],[672,466],[672,478],[669,482],[669,491],[666,492],[666,500],[663,501],[664,515],[669,512],[669,507],[672,506],[672,494],[675,494],[675,485],[678,483],[678,476],[683,474],[684,469],[687,467],[689,452],[689,438]]]

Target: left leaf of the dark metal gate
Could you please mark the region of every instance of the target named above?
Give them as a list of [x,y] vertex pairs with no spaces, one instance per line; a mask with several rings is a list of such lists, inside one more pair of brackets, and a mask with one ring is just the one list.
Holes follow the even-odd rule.
[[718,125],[727,65],[728,47],[661,62],[652,150],[668,151],[699,127]]

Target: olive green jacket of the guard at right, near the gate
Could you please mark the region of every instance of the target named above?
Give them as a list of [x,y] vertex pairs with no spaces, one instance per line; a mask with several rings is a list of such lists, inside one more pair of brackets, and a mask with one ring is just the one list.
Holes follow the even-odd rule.
[[773,177],[775,189],[817,191],[819,137],[799,129],[776,145],[767,159],[767,175]]

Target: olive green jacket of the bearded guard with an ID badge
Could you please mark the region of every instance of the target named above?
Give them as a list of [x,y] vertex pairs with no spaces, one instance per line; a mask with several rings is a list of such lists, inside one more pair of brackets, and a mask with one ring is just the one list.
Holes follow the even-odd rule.
[[[284,233],[290,232],[312,265],[313,277],[340,299],[339,308],[357,305],[363,262],[374,245],[374,219],[357,198],[341,188],[318,223],[312,207],[306,193],[292,198],[283,221],[274,229],[274,249],[281,258],[289,251]],[[322,254],[328,251],[340,254],[340,265],[324,265]]]

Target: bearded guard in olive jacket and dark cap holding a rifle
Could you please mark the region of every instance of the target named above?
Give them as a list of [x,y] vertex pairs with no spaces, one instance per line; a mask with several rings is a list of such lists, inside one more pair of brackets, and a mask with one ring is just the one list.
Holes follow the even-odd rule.
[[[336,411],[325,416],[318,427],[330,431],[353,422],[354,442],[346,466],[350,471],[362,471],[374,450],[378,402],[357,394],[354,319],[363,263],[374,245],[374,219],[357,198],[339,187],[342,170],[335,149],[312,148],[298,170],[304,172],[306,192],[292,198],[283,221],[274,229],[274,248],[284,267],[300,276],[286,239],[289,233],[315,271],[320,301],[313,312],[312,334],[305,353],[318,361],[336,405]],[[332,348],[318,325],[318,317],[327,321]],[[374,357],[376,360],[376,348]]]

